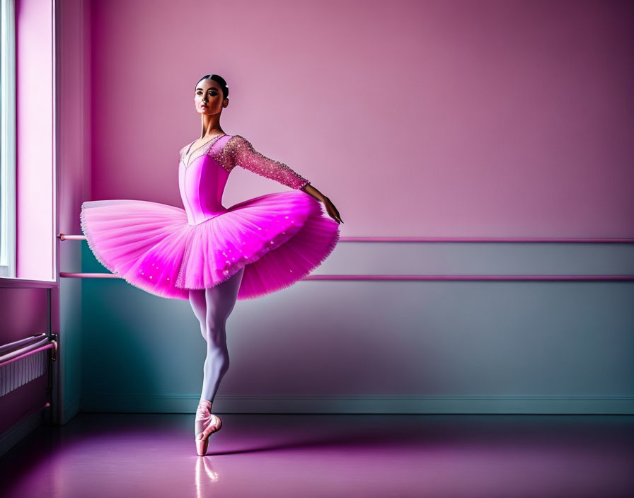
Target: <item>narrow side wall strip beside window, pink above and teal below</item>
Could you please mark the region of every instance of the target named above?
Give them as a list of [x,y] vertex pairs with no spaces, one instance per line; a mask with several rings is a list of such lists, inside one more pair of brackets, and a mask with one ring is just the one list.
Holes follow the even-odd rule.
[[[91,0],[57,1],[59,231],[81,233],[81,202],[89,197],[90,167],[90,6]],[[81,272],[81,241],[59,243],[63,272]],[[81,407],[84,279],[62,278],[59,286],[57,352],[59,422],[65,424]]]

